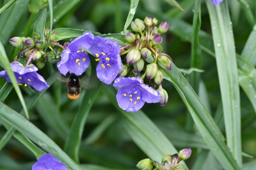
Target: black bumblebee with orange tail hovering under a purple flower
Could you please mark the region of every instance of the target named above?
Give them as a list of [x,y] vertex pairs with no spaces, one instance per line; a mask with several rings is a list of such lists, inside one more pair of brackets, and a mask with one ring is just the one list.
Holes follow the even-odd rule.
[[76,74],[71,73],[69,75],[66,86],[68,86],[68,98],[70,98],[71,100],[79,98],[81,93],[81,87],[80,79]]

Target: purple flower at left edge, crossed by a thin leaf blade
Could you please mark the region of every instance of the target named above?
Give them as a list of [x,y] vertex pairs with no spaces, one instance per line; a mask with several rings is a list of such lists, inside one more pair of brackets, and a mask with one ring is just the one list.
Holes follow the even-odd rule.
[[[22,64],[20,64],[17,61],[14,61],[11,64],[12,71],[14,72],[14,75],[17,79],[18,85],[26,87],[27,84],[32,86],[37,91],[44,90],[48,87],[50,87],[44,78],[40,76],[40,74],[36,73],[38,68],[34,66],[33,64],[28,65],[28,67],[24,67]],[[3,70],[0,72],[0,77],[4,76],[4,78],[11,82],[9,76],[6,73],[6,70]]]

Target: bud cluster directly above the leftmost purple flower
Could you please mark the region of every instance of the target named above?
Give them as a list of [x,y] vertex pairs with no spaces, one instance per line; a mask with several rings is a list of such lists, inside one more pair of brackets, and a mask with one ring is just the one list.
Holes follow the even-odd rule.
[[[50,42],[48,44],[48,48],[51,51],[44,53],[43,48],[46,47],[46,43],[49,39],[50,29],[47,28],[44,31],[44,39],[43,41],[40,36],[31,37],[12,37],[9,42],[14,46],[23,51],[14,58],[14,61],[19,61],[25,66],[29,64],[34,64],[37,68],[43,68],[45,65],[45,61],[49,61],[50,63],[56,63],[60,61],[60,53],[63,51],[63,46],[54,41],[56,39],[56,31],[52,31],[50,36]],[[55,45],[60,47],[59,49],[55,49]],[[26,57],[26,60],[24,59]],[[22,58],[22,59],[19,59]]]

